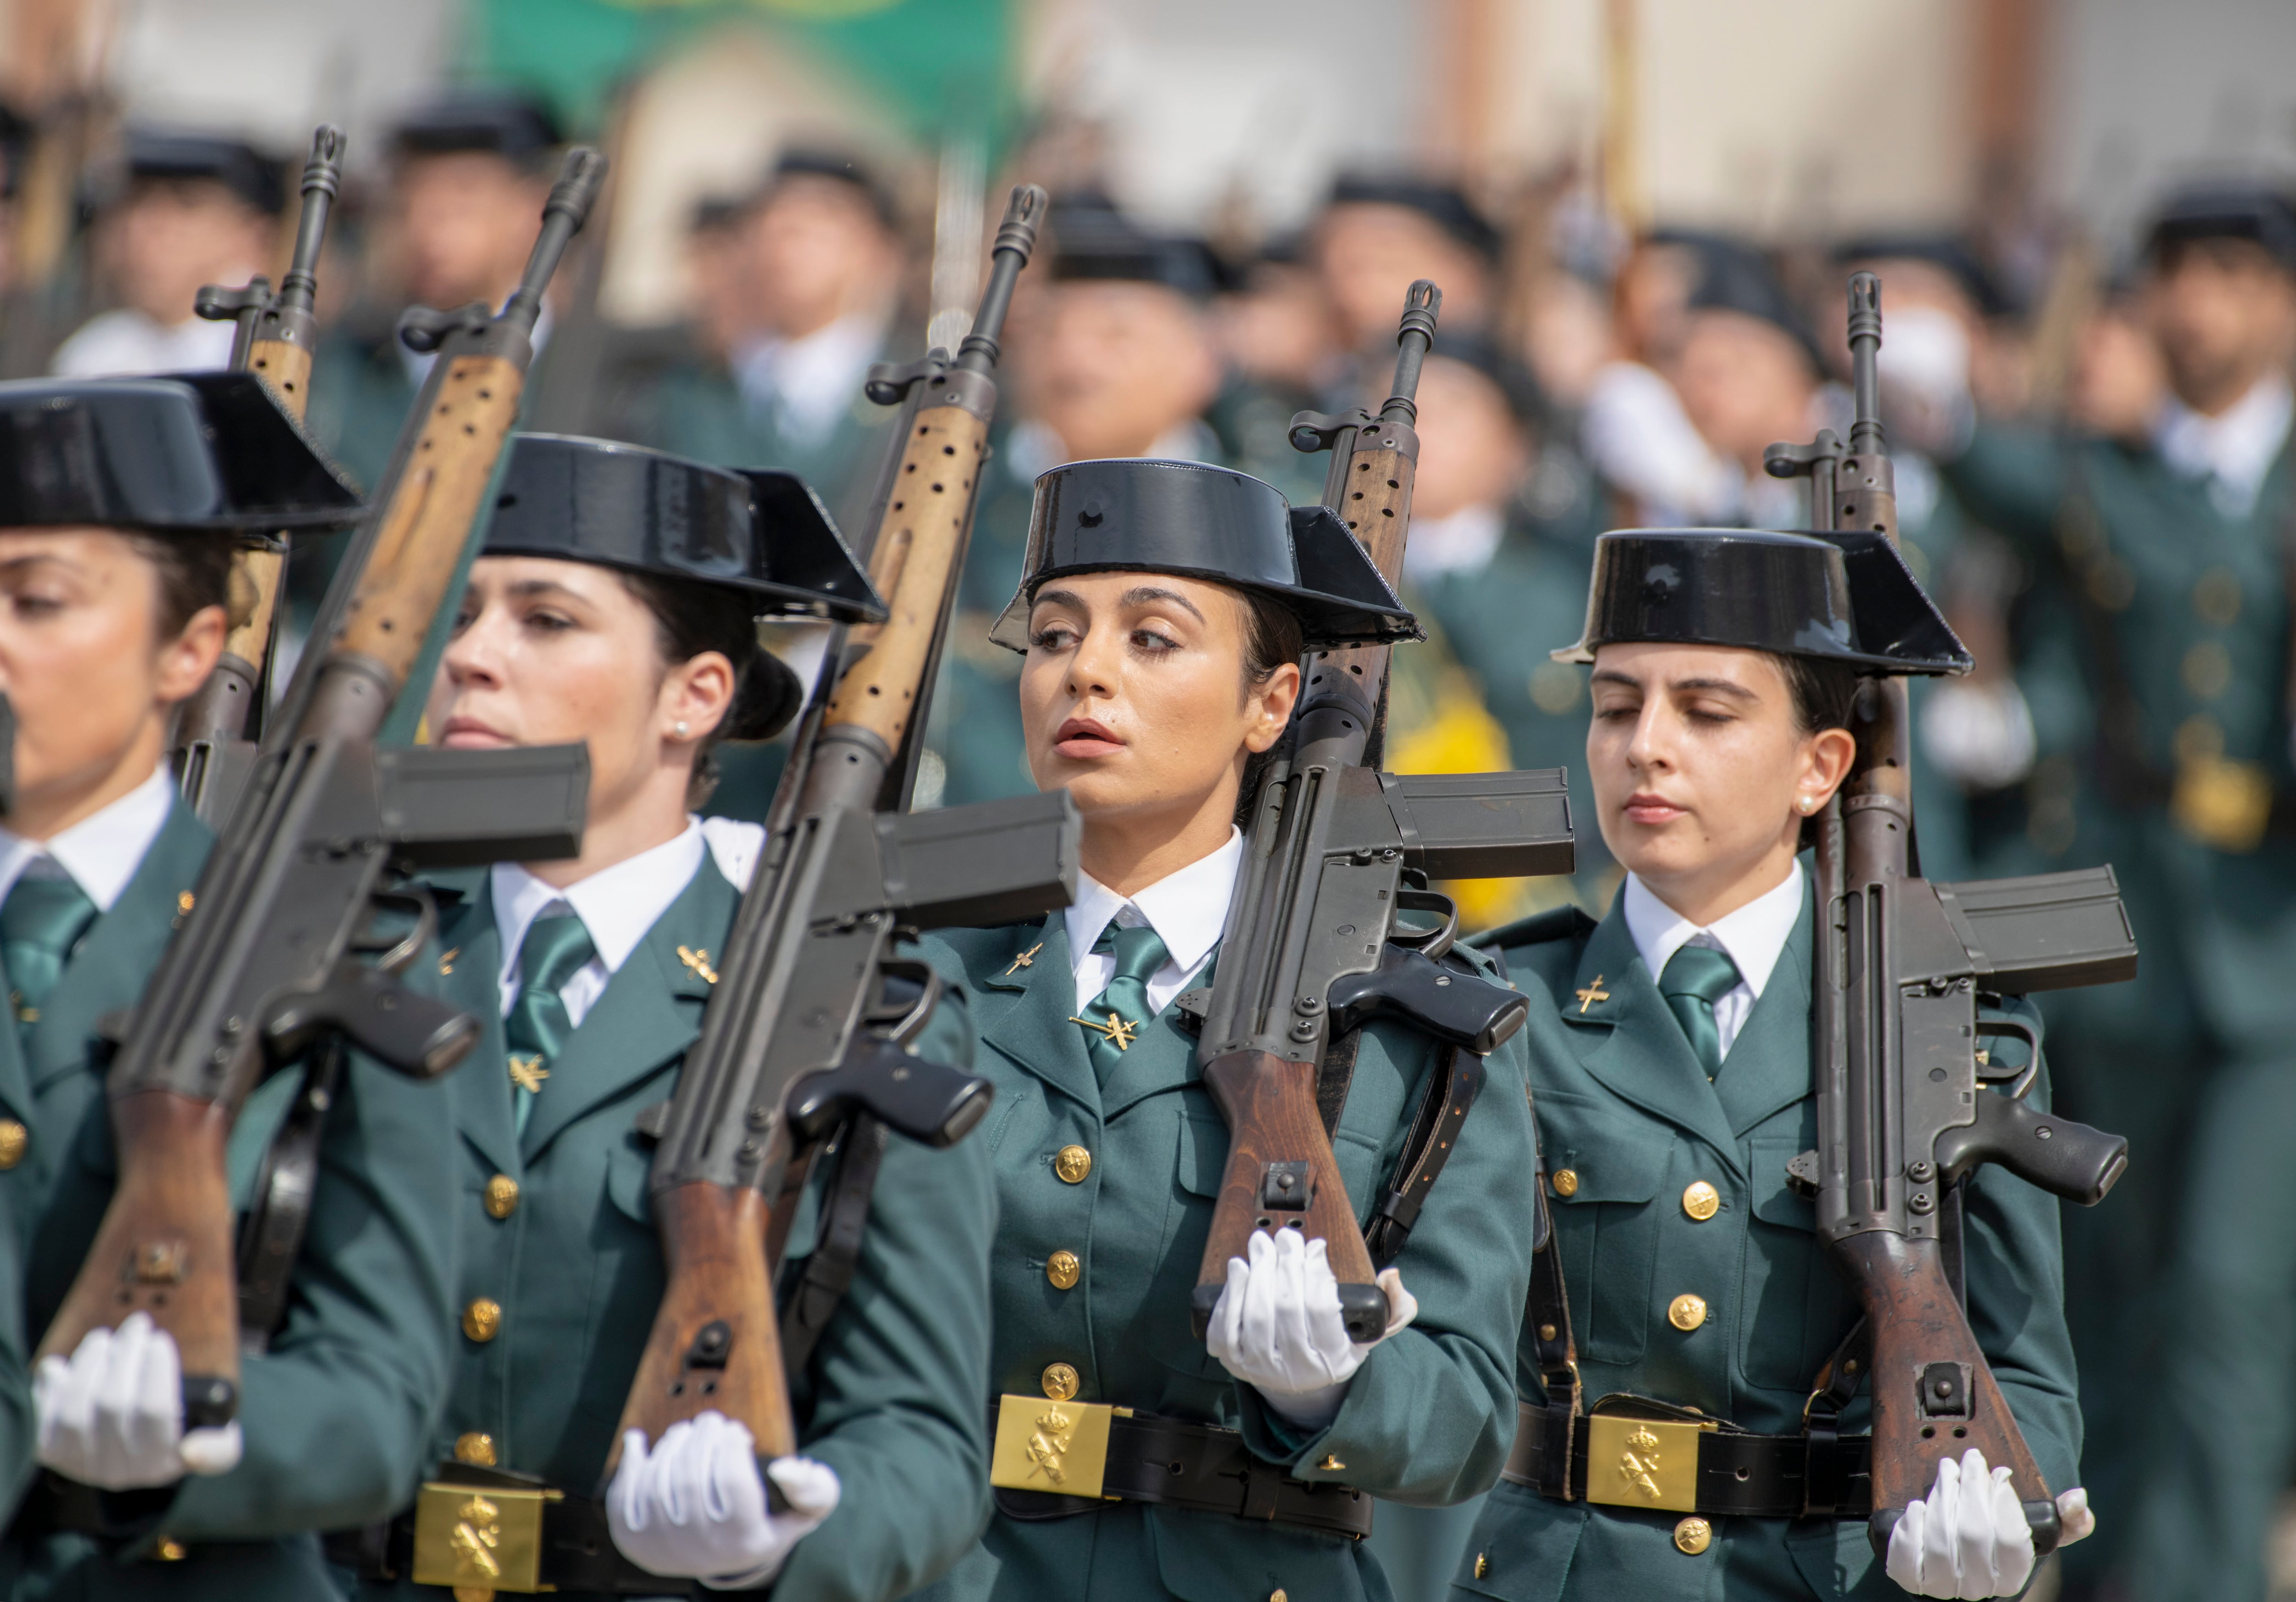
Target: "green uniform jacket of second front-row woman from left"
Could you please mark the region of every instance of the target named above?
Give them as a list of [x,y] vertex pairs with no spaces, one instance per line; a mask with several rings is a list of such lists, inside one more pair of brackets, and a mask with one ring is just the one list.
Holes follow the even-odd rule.
[[[737,893],[705,856],[567,1037],[521,1134],[487,874],[450,884],[466,893],[425,962],[436,991],[480,1019],[482,1037],[455,1079],[445,1136],[455,1173],[439,1212],[459,1244],[457,1317],[482,1299],[496,1313],[464,1317],[427,1460],[491,1460],[597,1496],[666,1283],[647,1193],[652,1145],[631,1122],[677,1088]],[[921,1051],[971,1063],[955,989]],[[813,1251],[817,1189],[792,1221],[785,1276]],[[980,1531],[994,1207],[978,1136],[948,1152],[889,1141],[852,1290],[813,1363],[790,1375],[799,1446],[836,1469],[843,1496],[790,1556],[778,1595],[891,1600],[948,1568]],[[365,1593],[445,1597],[411,1581]]]

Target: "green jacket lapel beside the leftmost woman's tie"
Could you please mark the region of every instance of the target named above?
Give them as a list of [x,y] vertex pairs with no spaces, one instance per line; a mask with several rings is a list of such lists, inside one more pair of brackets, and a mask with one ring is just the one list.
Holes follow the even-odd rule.
[[216,835],[188,806],[177,801],[168,810],[168,822],[161,824],[135,877],[113,909],[87,927],[64,978],[41,1008],[39,1024],[32,1026],[23,1067],[34,1092],[87,1065],[87,1042],[106,1012],[142,1001],[152,969],[158,966],[177,923],[188,911],[193,886],[214,845]]

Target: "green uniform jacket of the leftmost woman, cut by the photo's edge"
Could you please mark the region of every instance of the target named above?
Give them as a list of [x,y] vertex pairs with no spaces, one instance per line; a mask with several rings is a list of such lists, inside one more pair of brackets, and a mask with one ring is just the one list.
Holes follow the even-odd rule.
[[[25,1127],[0,1203],[25,1251],[25,1333],[37,1343],[78,1276],[115,1184],[110,1111],[92,1060],[96,1021],[129,1008],[172,934],[214,845],[177,803],[142,865],[96,918],[21,1051],[0,1028],[0,1118]],[[230,1175],[246,1203],[262,1152],[298,1088],[278,1074],[241,1109]],[[181,1480],[154,1542],[101,1554],[80,1535],[9,1538],[11,1595],[312,1597],[326,1568],[312,1531],[372,1519],[406,1499],[448,1361],[450,1239],[432,1198],[450,1184],[439,1141],[448,1092],[351,1056],[328,1113],[287,1322],[241,1368],[246,1457]]]

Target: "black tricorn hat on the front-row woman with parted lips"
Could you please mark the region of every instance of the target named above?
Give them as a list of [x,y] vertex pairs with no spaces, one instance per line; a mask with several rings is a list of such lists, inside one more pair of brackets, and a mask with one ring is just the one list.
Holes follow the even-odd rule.
[[1251,590],[1300,617],[1309,650],[1424,638],[1329,507],[1295,507],[1201,461],[1070,461],[1035,480],[1019,590],[990,629],[1029,650],[1029,606],[1063,574],[1178,574]]

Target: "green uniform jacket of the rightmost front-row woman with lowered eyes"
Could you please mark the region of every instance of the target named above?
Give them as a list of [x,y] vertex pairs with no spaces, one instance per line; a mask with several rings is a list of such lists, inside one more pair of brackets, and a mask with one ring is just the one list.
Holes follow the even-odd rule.
[[[1812,1377],[1857,1317],[1816,1239],[1816,1205],[1786,1184],[1786,1164],[1818,1143],[1809,904],[1713,1081],[1642,966],[1619,907],[1600,925],[1559,909],[1481,943],[1504,952],[1508,975],[1531,996],[1531,1095],[1554,1175],[1554,1235],[1587,1405],[1623,1391],[1761,1434],[1795,1434]],[[2046,1079],[2032,1095],[2048,1095]],[[1704,1221],[1685,1200],[1699,1182],[1720,1193],[1720,1210]],[[2041,1473],[2060,1492],[2078,1485],[2057,1200],[1986,1168],[1968,1191],[1963,1272],[1977,1343]],[[1704,1301],[1688,1331],[1669,1317],[1685,1294]],[[1529,1345],[1515,1372],[1522,1395],[1541,1400]],[[1844,1432],[1864,1432],[1867,1414],[1860,1398]],[[1699,1556],[1674,1545],[1678,1519],[1548,1501],[1502,1483],[1453,1595],[1901,1595],[1867,1545],[1864,1519],[1717,1517]]]

